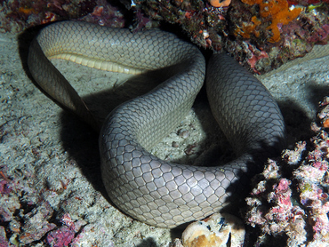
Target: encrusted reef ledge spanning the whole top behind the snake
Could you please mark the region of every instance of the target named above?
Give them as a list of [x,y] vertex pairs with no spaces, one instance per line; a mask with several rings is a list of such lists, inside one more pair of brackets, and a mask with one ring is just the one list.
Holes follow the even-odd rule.
[[301,57],[311,51],[314,44],[326,44],[329,39],[327,0],[121,2],[123,4],[116,3],[114,7],[105,0],[50,3],[4,0],[0,4],[0,30],[20,31],[68,19],[118,28],[125,26],[133,31],[171,23],[179,25],[195,44],[215,51],[225,50],[256,74]]

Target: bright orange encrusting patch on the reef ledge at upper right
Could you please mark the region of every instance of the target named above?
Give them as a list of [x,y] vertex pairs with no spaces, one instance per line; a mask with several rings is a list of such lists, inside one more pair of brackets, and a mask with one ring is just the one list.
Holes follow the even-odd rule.
[[[297,18],[301,13],[301,8],[289,10],[289,4],[286,0],[241,0],[244,4],[259,4],[260,16],[271,24],[267,29],[272,31],[269,42],[275,43],[280,40],[280,31],[278,24],[286,25]],[[252,20],[253,21],[253,20]],[[254,22],[253,22],[254,23]],[[255,23],[254,23],[255,24]]]

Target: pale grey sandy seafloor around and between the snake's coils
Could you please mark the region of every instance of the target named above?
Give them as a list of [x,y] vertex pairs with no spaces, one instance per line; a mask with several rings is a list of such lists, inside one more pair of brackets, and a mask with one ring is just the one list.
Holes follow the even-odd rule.
[[[132,220],[108,203],[100,177],[98,134],[36,88],[23,68],[27,51],[24,46],[23,43],[19,49],[17,36],[0,34],[0,169],[17,186],[12,187],[10,198],[4,200],[2,196],[0,208],[15,205],[12,219],[20,224],[20,231],[8,235],[11,242],[17,243],[24,231],[28,233],[24,224],[31,215],[27,213],[36,213],[43,203],[49,203],[53,211],[50,219],[39,219],[40,222],[48,220],[60,227],[60,217],[68,213],[83,225],[76,233],[74,246],[169,246],[175,237],[181,237],[178,230],[149,227]],[[84,99],[92,102],[93,109],[110,104],[104,100],[108,91],[103,89],[108,84],[116,84],[116,90],[108,98],[123,92],[120,75],[67,61],[56,64]],[[316,119],[317,102],[329,95],[329,60],[305,62],[262,81],[285,116],[289,147],[297,140],[309,139],[309,123]],[[99,99],[103,100],[98,102]],[[201,92],[195,111],[191,110],[181,126],[153,151],[162,158],[181,162],[195,160],[203,149],[208,151],[207,155],[229,154],[232,149],[225,150],[227,145],[220,141],[221,137],[205,92]],[[178,147],[172,147],[173,141]],[[197,162],[202,163],[199,159]],[[10,222],[2,226],[12,227]],[[45,236],[38,239],[30,245],[45,246]]]

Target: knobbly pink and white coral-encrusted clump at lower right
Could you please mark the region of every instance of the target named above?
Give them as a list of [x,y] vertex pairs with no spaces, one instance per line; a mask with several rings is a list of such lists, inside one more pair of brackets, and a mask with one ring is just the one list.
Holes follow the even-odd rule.
[[[324,123],[328,110],[318,115]],[[298,142],[254,177],[245,219],[261,229],[256,246],[268,246],[269,235],[287,238],[286,246],[329,246],[329,135],[316,123],[312,129],[310,144]]]

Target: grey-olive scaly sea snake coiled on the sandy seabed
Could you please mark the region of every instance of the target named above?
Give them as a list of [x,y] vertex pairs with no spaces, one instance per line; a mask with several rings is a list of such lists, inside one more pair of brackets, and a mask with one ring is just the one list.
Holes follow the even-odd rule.
[[28,55],[36,83],[97,128],[99,123],[50,58],[122,72],[167,68],[164,83],[117,107],[100,130],[101,173],[110,199],[149,225],[176,227],[220,211],[247,185],[248,174],[283,147],[285,123],[267,89],[229,56],[213,54],[206,69],[208,100],[237,159],[197,167],[149,154],[187,115],[205,80],[202,53],[173,34],[132,34],[78,21],[58,22],[39,33]]

